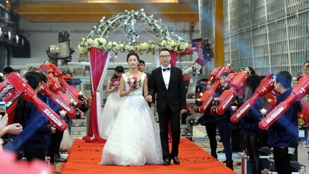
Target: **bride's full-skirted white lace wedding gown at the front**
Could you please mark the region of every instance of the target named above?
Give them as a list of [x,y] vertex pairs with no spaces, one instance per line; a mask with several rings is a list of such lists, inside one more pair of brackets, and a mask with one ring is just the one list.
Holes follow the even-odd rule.
[[[122,76],[127,82],[128,77]],[[142,84],[145,76],[141,77]],[[130,89],[127,83],[126,89]],[[143,86],[123,97],[99,164],[141,166],[163,163],[159,130],[142,92]]]

